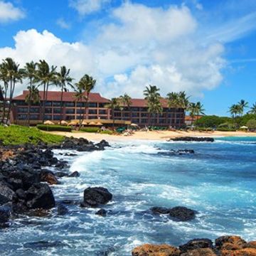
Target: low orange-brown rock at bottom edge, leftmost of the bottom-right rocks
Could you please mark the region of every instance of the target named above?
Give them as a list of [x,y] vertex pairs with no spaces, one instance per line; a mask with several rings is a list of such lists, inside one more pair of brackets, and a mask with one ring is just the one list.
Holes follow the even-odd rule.
[[132,256],[179,256],[181,251],[171,245],[141,245],[132,250]]

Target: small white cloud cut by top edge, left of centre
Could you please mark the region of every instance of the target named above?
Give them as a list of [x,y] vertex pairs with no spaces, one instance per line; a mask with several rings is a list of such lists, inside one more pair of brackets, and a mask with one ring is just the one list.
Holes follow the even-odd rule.
[[70,7],[73,7],[82,16],[100,11],[110,0],[70,0]]

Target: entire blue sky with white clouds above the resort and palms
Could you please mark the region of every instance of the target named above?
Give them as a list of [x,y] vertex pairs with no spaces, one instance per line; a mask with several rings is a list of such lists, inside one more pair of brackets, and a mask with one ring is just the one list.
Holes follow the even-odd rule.
[[256,102],[255,46],[255,0],[0,0],[0,60],[65,65],[104,97],[150,84],[228,115]]

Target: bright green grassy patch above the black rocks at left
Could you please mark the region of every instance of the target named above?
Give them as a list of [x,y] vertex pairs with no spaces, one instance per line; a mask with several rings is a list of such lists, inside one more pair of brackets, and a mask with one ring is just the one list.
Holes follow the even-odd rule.
[[63,139],[63,136],[47,134],[36,127],[29,128],[18,125],[3,127],[0,125],[0,142],[5,146],[25,143],[38,144],[38,142],[56,144],[62,142]]

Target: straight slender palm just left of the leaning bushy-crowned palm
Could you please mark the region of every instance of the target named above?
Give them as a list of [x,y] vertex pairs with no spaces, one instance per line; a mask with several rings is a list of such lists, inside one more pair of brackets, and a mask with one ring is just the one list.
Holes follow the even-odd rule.
[[61,87],[61,95],[60,95],[60,108],[61,108],[61,117],[60,117],[60,124],[63,120],[63,92],[67,92],[68,88],[67,86],[72,86],[71,82],[73,78],[70,77],[70,69],[67,70],[65,66],[60,67],[60,72],[57,73],[57,80],[58,85]]

